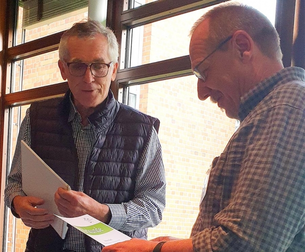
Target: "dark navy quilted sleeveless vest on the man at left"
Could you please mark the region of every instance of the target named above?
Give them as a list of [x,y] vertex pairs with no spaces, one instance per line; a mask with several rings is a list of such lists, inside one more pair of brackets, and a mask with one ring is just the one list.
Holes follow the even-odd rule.
[[[30,107],[31,148],[75,190],[78,156],[68,122],[70,91],[63,98],[35,102]],[[152,127],[160,121],[116,101],[109,91],[105,104],[89,116],[96,134],[85,168],[83,192],[100,203],[120,204],[134,197],[139,158]],[[147,229],[124,232],[146,239]],[[31,229],[26,252],[58,252],[63,240],[52,227]],[[102,245],[85,235],[87,252]]]

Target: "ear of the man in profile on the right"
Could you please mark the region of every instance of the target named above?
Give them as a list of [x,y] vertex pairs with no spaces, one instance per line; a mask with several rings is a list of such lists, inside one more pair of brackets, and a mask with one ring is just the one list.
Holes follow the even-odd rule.
[[254,49],[254,41],[250,35],[245,31],[240,30],[234,33],[232,39],[241,60],[243,62],[250,60]]

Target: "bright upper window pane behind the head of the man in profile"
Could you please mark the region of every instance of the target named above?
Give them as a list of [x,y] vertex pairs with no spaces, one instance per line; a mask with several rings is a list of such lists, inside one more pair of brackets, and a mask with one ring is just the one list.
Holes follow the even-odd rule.
[[[240,0],[253,6],[275,23],[276,0]],[[214,5],[215,6],[215,5]],[[163,19],[130,30],[128,67],[188,55],[189,31],[194,22],[213,6]],[[124,57],[122,57],[124,58]],[[121,62],[121,69],[125,62]]]

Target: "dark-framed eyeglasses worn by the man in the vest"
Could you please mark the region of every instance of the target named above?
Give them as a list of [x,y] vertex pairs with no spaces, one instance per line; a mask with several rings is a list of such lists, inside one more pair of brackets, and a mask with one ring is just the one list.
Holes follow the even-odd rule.
[[69,72],[75,77],[84,76],[87,68],[90,68],[91,74],[95,77],[102,78],[108,74],[109,67],[113,64],[111,61],[109,64],[106,63],[86,63],[86,62],[68,62]]

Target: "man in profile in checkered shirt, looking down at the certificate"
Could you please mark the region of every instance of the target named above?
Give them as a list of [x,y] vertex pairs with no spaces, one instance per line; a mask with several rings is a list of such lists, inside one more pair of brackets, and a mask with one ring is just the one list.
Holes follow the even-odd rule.
[[198,97],[240,127],[213,162],[189,239],[131,239],[102,252],[304,252],[305,70],[283,67],[275,28],[240,3],[204,14],[189,52]]

